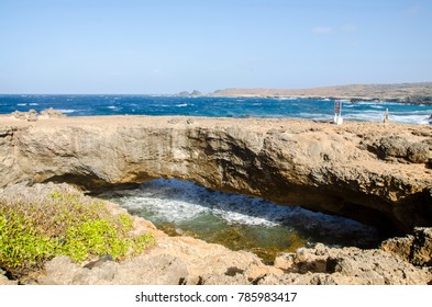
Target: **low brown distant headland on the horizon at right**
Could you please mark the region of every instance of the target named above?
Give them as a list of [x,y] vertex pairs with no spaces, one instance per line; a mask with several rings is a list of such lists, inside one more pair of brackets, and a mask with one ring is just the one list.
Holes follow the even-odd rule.
[[350,84],[301,90],[225,89],[218,90],[210,95],[340,98],[350,100],[384,100],[411,103],[432,103],[432,82],[395,84]]

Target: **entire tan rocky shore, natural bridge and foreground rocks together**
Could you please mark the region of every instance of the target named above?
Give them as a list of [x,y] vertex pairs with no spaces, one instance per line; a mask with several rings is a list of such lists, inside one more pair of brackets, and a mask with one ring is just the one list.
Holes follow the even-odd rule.
[[[84,264],[55,258],[24,283],[428,284],[431,230],[419,227],[432,226],[431,154],[432,127],[419,125],[0,117],[1,193],[14,184],[68,182],[98,191],[178,178],[279,205],[347,216],[373,224],[385,235],[409,234],[385,241],[380,249],[319,245],[280,254],[274,265],[265,265],[255,254],[168,237],[134,217],[134,227],[148,229],[157,240],[141,257]],[[0,283],[9,282],[0,275]]]

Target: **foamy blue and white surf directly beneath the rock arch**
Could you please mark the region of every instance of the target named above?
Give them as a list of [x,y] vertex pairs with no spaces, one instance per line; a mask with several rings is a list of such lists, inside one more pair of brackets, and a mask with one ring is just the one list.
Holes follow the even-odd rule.
[[141,189],[115,192],[113,201],[133,212],[149,212],[157,220],[179,224],[211,214],[228,224],[263,227],[289,226],[339,235],[368,234],[372,227],[357,221],[313,213],[301,207],[277,206],[262,198],[213,192],[191,182],[155,180]]

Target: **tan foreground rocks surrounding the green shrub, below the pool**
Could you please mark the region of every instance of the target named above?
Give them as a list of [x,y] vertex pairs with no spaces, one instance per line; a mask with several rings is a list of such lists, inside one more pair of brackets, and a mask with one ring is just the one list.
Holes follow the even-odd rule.
[[[2,198],[42,197],[52,191],[74,191],[66,184],[12,185],[1,190]],[[29,196],[31,195],[31,196]],[[81,197],[89,197],[84,196]],[[126,213],[104,201],[112,214]],[[190,237],[169,237],[143,218],[134,217],[132,231],[151,232],[156,246],[143,254],[115,262],[101,257],[74,263],[56,257],[42,270],[20,281],[0,272],[0,284],[151,284],[151,285],[409,285],[432,283],[432,228],[416,228],[413,235],[392,238],[380,249],[328,248],[321,243],[295,253],[280,253],[266,265],[255,254],[231,251]]]

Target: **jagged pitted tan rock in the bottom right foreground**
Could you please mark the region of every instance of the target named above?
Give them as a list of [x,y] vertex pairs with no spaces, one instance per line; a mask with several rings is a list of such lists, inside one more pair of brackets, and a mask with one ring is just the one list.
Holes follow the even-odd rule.
[[286,274],[268,274],[259,284],[428,284],[430,269],[418,269],[380,250],[357,248],[301,249],[279,255],[275,265]]

